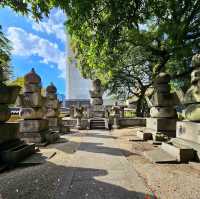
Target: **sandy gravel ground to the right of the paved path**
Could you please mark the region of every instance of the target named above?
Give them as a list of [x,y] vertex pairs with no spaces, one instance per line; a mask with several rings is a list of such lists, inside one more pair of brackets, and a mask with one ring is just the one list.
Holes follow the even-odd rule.
[[[189,164],[153,164],[141,154],[154,147],[147,142],[130,142],[138,128],[112,131],[120,148],[133,152],[127,156],[132,167],[145,180],[147,186],[161,199],[200,198],[200,171]],[[126,155],[126,154],[125,154]]]

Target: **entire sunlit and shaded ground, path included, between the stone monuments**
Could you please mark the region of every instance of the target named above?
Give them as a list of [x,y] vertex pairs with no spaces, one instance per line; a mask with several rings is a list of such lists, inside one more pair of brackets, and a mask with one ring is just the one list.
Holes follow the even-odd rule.
[[2,173],[0,198],[198,198],[199,166],[151,163],[143,152],[156,145],[132,141],[141,128],[63,135]]

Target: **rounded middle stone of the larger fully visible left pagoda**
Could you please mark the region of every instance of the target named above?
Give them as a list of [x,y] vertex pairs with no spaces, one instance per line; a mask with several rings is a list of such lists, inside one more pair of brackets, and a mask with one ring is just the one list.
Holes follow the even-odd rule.
[[44,113],[42,109],[33,109],[33,108],[22,108],[20,112],[20,116],[23,119],[42,119]]

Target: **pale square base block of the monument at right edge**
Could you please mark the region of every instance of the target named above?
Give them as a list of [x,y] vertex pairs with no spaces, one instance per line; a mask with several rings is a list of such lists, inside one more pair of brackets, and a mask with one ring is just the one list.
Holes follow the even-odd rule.
[[189,121],[177,122],[176,136],[200,144],[200,123]]

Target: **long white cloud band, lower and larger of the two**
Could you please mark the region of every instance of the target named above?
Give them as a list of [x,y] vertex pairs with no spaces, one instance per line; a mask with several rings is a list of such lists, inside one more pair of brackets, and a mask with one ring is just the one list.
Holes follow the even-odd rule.
[[65,78],[66,54],[52,43],[35,34],[28,33],[22,28],[9,27],[7,37],[13,44],[13,54],[18,56],[37,55],[42,63],[55,64],[62,72],[59,77]]

